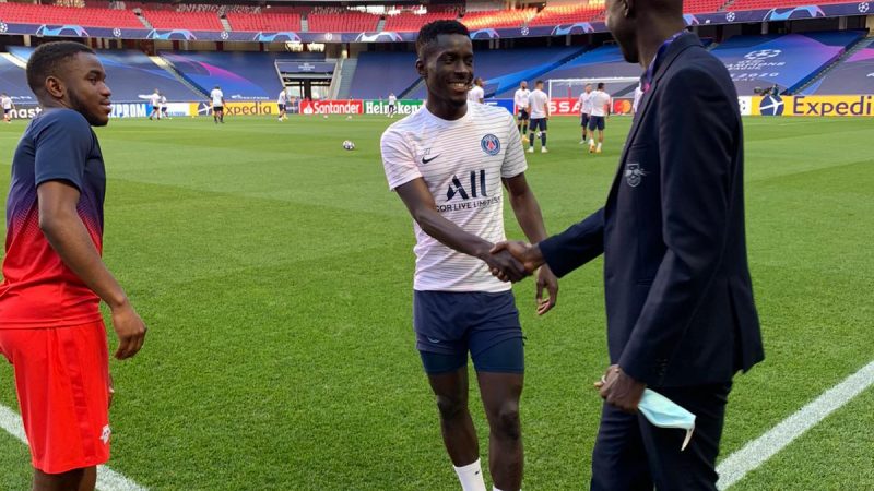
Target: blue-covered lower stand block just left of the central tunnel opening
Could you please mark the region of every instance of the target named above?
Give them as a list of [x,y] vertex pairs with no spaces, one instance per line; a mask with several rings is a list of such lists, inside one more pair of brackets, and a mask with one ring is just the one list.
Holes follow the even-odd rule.
[[282,88],[276,60],[323,60],[322,53],[169,52],[158,53],[189,83],[209,94],[216,85],[225,99],[273,100]]

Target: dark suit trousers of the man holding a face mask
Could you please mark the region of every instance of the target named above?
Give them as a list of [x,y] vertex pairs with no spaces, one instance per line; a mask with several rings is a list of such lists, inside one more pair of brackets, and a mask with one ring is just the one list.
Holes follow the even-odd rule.
[[731,382],[653,388],[696,416],[685,451],[686,431],[658,428],[641,414],[629,415],[604,404],[592,455],[593,491],[713,490],[725,404]]

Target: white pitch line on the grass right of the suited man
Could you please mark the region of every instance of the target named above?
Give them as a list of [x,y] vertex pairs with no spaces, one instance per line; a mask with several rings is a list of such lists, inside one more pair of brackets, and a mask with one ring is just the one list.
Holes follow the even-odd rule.
[[724,490],[764,464],[805,431],[874,384],[874,361],[784,419],[770,431],[731,454],[717,467],[717,488]]

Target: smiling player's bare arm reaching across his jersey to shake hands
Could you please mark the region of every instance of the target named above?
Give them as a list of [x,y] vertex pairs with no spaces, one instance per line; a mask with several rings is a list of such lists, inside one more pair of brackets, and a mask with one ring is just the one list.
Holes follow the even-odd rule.
[[440,243],[454,249],[461,253],[479,258],[484,261],[489,270],[498,270],[504,273],[505,278],[518,282],[525,276],[522,265],[512,259],[508,252],[492,254],[493,243],[469,233],[458,225],[444,218],[437,212],[430,191],[428,191],[425,180],[422,178],[413,179],[405,184],[401,184],[395,190],[410,215],[422,227],[422,230],[434,237]]

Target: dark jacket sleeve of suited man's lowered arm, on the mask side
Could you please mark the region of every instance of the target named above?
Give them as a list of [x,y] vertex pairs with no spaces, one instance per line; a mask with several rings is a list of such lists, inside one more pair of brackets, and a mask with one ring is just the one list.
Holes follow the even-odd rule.
[[660,383],[719,271],[739,142],[737,101],[701,69],[666,80],[658,104],[666,251],[619,358],[625,372],[650,385]]

